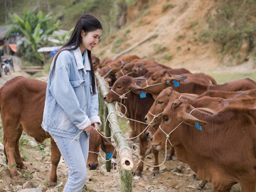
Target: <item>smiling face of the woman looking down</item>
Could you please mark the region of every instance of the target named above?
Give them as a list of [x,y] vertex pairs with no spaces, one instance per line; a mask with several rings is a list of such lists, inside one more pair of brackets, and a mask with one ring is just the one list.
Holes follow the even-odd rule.
[[80,44],[80,50],[83,53],[85,49],[92,50],[100,41],[100,36],[102,34],[102,30],[98,28],[95,31],[90,31],[85,33],[85,31],[81,31],[82,43]]

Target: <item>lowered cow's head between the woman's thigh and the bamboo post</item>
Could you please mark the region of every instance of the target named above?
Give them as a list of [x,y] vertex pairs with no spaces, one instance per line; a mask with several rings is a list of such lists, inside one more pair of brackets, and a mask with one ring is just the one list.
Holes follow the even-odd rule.
[[[104,135],[103,133],[101,134]],[[97,166],[99,165],[97,157],[98,153],[100,152],[100,148],[106,154],[113,152],[113,158],[117,158],[117,152],[114,150],[114,146],[111,144],[111,142],[105,137],[102,137],[94,129],[91,129],[89,139],[89,154],[87,159],[87,166],[90,170],[97,169]]]

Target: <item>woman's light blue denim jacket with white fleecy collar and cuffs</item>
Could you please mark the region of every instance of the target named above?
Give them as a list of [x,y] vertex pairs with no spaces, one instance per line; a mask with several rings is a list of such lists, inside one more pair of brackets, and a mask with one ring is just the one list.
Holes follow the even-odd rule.
[[[53,63],[50,73],[52,68]],[[98,95],[92,93],[91,71],[88,63],[82,65],[80,48],[63,50],[48,80],[41,126],[50,134],[73,139],[90,124],[101,124],[98,106]]]

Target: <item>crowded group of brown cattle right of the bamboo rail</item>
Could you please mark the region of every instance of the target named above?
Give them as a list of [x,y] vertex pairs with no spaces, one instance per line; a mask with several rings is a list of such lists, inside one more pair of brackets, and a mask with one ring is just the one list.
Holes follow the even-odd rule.
[[[136,55],[102,60],[95,67],[111,87],[104,100],[122,102],[127,117],[151,124],[139,136],[142,160],[151,148],[158,165],[159,151],[169,148],[168,159],[175,153],[203,185],[213,183],[214,191],[230,191],[235,183],[244,192],[255,191],[256,82],[247,78],[217,85],[210,75]],[[146,129],[140,122],[129,121],[130,137]],[[141,161],[135,174],[142,170]]]

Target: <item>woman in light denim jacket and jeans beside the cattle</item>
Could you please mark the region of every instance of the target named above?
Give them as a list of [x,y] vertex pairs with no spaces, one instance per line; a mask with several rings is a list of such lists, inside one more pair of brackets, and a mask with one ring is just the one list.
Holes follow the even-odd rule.
[[[50,66],[42,127],[53,137],[68,166],[64,191],[82,191],[89,130],[101,124],[91,59],[91,50],[99,43],[101,34],[102,23],[94,16],[82,14],[68,43],[55,53]],[[81,130],[85,132],[79,134]]]

